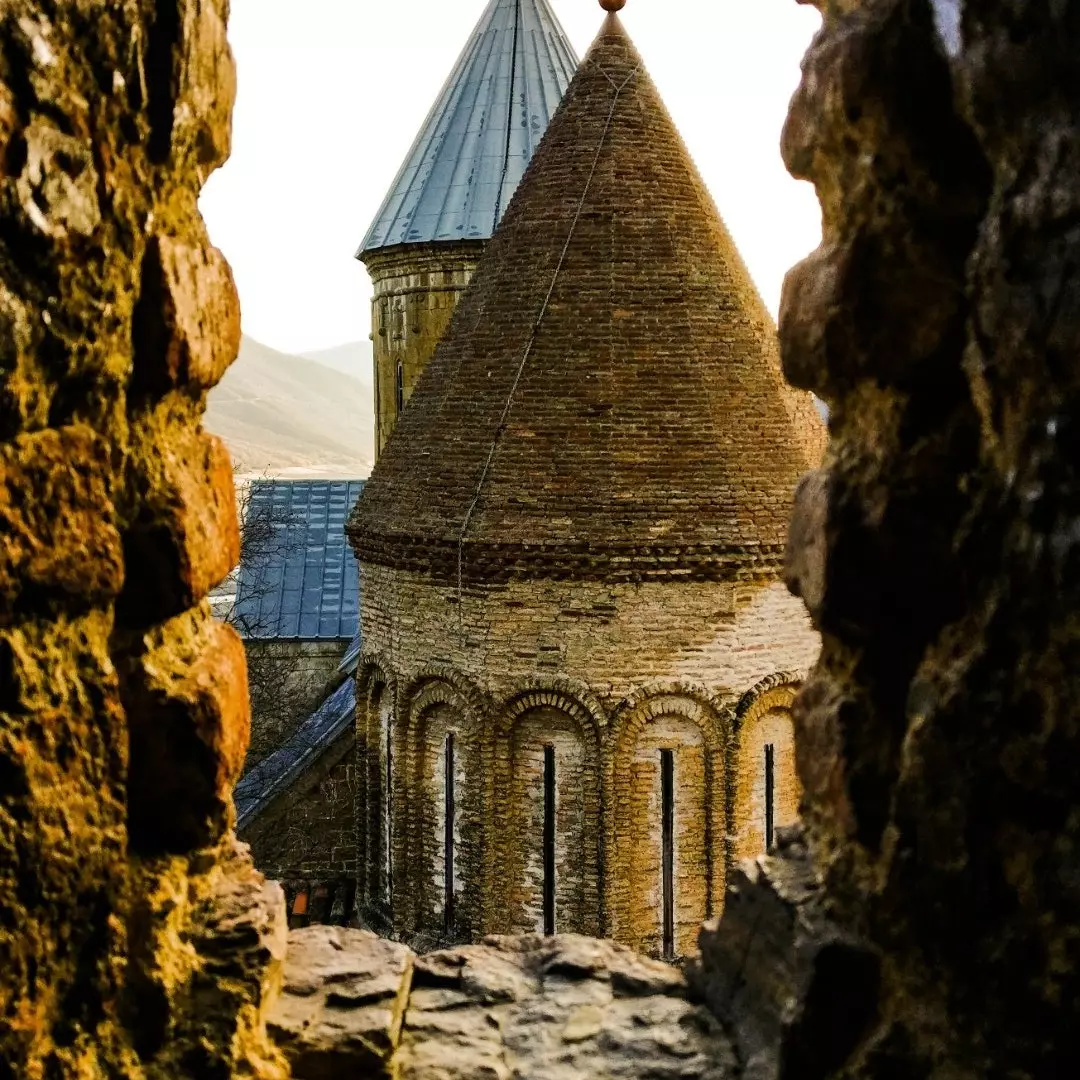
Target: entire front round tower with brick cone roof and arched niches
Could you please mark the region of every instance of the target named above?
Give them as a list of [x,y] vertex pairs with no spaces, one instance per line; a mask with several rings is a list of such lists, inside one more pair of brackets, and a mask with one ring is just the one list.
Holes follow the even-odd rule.
[[693,949],[797,813],[823,443],[611,14],[350,519],[367,918]]

